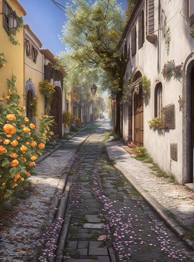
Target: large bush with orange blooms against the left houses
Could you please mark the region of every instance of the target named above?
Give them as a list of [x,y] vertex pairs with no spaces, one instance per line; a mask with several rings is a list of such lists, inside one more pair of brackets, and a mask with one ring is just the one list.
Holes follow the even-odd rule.
[[2,204],[8,203],[13,192],[30,176],[34,161],[40,155],[39,147],[45,147],[44,130],[49,130],[52,122],[42,117],[42,135],[38,136],[17,94],[15,76],[8,80],[8,94],[2,96],[1,101],[6,101],[6,105],[0,109],[0,211]]

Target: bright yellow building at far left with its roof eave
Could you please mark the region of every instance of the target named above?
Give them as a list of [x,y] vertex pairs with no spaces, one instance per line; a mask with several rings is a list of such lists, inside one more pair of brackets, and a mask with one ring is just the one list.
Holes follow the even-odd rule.
[[[20,25],[20,19],[26,15],[25,10],[17,0],[0,1],[0,54],[3,53],[7,63],[0,68],[0,95],[4,92],[8,94],[7,79],[12,78],[12,72],[17,77],[18,95],[21,96],[24,104],[25,84],[24,84],[24,29],[16,36],[11,34]],[[18,41],[15,45],[10,38]]]

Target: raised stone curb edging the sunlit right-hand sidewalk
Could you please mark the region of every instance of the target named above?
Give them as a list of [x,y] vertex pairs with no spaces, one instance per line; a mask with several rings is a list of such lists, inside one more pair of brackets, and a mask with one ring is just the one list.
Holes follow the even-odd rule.
[[[114,159],[112,150],[109,148],[109,146],[106,145],[106,150],[109,156],[109,159]],[[115,160],[115,159],[114,159]],[[116,160],[115,160],[116,161]],[[145,189],[140,185],[140,183],[135,179],[134,176],[127,172],[125,168],[122,167],[121,164],[115,164],[114,165],[117,170],[119,170],[126,179],[132,184],[132,186],[135,188],[135,190],[142,195],[142,197],[146,200],[146,202],[153,208],[153,210],[159,215],[159,217],[162,218],[162,220],[167,224],[167,226],[174,232],[176,235],[185,242],[185,244],[190,247],[192,250],[194,250],[194,241],[190,240],[188,237],[185,237],[185,235],[188,233],[186,230],[184,230],[173,218],[169,217],[167,215],[167,212],[169,210],[165,207],[163,207],[154,197],[152,197],[149,193],[145,192]]]

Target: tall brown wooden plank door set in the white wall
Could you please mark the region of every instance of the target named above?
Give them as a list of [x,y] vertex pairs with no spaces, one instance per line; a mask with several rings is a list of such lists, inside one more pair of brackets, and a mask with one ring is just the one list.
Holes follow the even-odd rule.
[[134,144],[143,146],[143,97],[142,86],[139,86],[139,94],[134,96]]

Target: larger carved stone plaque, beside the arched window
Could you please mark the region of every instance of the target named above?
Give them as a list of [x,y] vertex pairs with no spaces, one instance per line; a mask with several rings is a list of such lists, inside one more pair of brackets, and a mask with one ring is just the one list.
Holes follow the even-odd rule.
[[164,107],[164,128],[175,128],[175,105],[169,104]]

